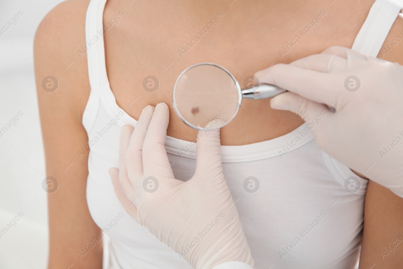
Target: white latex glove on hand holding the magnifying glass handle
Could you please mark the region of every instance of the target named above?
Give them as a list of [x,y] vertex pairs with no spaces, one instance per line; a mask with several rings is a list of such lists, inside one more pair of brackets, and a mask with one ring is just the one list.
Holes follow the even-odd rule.
[[403,197],[401,65],[336,46],[256,77],[289,90],[272,108],[310,123],[322,150]]

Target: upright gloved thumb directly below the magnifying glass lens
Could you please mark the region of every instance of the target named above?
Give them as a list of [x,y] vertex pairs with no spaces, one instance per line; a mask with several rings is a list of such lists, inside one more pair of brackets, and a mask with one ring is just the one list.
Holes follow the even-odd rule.
[[205,180],[216,179],[222,173],[220,129],[201,130],[196,141],[195,175],[203,175]]

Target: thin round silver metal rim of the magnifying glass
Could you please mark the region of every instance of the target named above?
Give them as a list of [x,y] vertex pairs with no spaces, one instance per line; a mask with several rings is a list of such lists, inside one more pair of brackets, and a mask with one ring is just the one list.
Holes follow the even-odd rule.
[[[182,75],[188,71],[189,69],[196,67],[198,65],[214,65],[218,68],[221,68],[222,70],[224,70],[228,75],[231,76],[232,80],[235,82],[235,89],[238,92],[238,103],[237,103],[237,109],[235,110],[234,115],[232,115],[231,119],[229,119],[228,121],[226,121],[226,123],[224,123],[223,125],[220,125],[218,127],[213,127],[213,128],[202,128],[202,127],[197,127],[195,125],[193,125],[192,123],[190,123],[189,121],[187,121],[187,119],[185,119],[185,117],[182,116],[182,114],[179,112],[177,105],[176,105],[176,101],[175,101],[175,91],[176,91],[176,86],[178,84],[179,79],[181,79]],[[179,77],[177,78],[177,81],[175,81],[175,85],[174,85],[174,91],[172,93],[172,99],[173,99],[173,107],[174,107],[174,111],[175,113],[178,115],[179,119],[181,119],[184,123],[186,123],[188,126],[192,127],[193,129],[197,129],[197,130],[204,130],[204,131],[208,131],[208,130],[215,130],[215,129],[219,129],[221,127],[224,127],[225,125],[227,125],[230,121],[232,121],[232,119],[235,117],[235,115],[237,115],[238,113],[238,109],[239,106],[241,106],[241,102],[242,102],[242,93],[241,93],[241,86],[239,86],[239,83],[237,81],[237,79],[235,79],[235,77],[228,71],[226,70],[224,67],[220,66],[220,65],[216,65],[215,63],[197,63],[195,65],[189,66],[187,69],[183,70],[182,73],[179,75]],[[212,96],[214,97],[214,96]],[[236,101],[236,100],[235,100]],[[234,103],[235,103],[234,101]]]

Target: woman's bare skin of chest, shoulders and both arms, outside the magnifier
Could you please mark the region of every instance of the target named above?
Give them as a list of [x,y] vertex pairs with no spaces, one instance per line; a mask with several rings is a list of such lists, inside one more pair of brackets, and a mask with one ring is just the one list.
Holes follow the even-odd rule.
[[[125,13],[118,25],[104,35],[108,79],[118,106],[138,119],[146,105],[166,102],[170,106],[168,135],[193,141],[196,131],[177,118],[171,105],[172,87],[185,68],[200,62],[217,63],[243,85],[246,77],[273,63],[290,63],[330,46],[351,47],[372,5],[370,1],[347,0],[338,0],[332,6],[331,2],[320,0],[231,2],[108,0],[104,25],[120,10]],[[88,142],[81,123],[90,92],[87,59],[85,54],[80,58],[77,53],[85,44],[83,16],[88,3],[89,0],[70,0],[59,4],[46,15],[35,35],[35,73],[47,174],[56,177],[60,184],[59,190],[49,195],[51,269],[72,264],[71,268],[102,267],[102,242],[81,259],[77,254],[94,238],[100,238],[100,229],[89,214],[85,197],[88,154],[81,158],[77,154]],[[225,15],[219,24],[199,36],[200,40],[180,55],[178,50],[199,35],[197,31],[220,10]],[[298,31],[321,10],[326,15],[319,20],[320,24],[282,57],[279,50],[300,35]],[[385,44],[395,40],[399,30],[403,30],[401,18],[395,21]],[[403,45],[395,46],[384,59],[403,64]],[[59,81],[58,90],[52,93],[42,89],[42,79],[48,75]],[[149,75],[160,82],[156,92],[143,88],[143,79]],[[270,140],[303,123],[289,111],[271,109],[269,102],[243,100],[237,117],[221,129],[221,144]],[[403,247],[395,248],[383,260],[380,255],[403,232],[402,210],[403,199],[370,182],[360,269],[374,263],[374,268],[397,268],[403,263]]]

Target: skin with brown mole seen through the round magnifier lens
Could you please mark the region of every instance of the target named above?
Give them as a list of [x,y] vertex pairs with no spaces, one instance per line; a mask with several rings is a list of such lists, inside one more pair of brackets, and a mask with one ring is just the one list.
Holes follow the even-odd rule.
[[[221,126],[233,117],[238,105],[238,92],[232,77],[223,69],[207,64],[183,73],[174,98],[179,113],[196,127],[205,127],[210,122],[212,127]],[[222,119],[220,125],[215,119]]]

